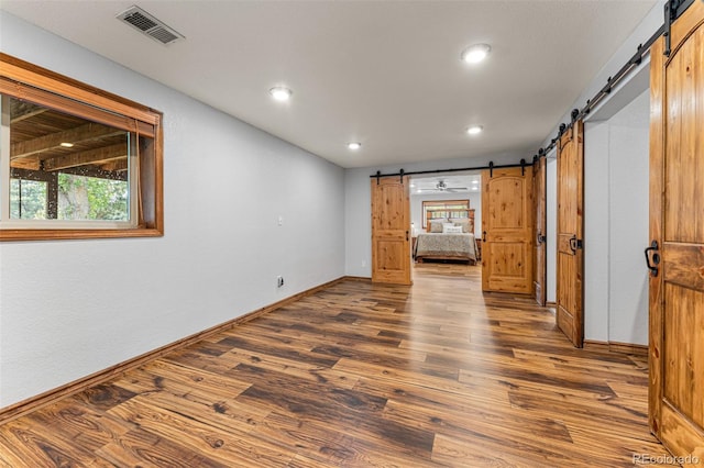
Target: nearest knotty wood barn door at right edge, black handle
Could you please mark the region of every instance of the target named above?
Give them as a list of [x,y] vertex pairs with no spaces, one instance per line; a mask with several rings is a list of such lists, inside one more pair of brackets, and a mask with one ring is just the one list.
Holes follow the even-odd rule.
[[[704,466],[704,2],[650,49],[650,427]],[[694,463],[698,459],[698,464]]]

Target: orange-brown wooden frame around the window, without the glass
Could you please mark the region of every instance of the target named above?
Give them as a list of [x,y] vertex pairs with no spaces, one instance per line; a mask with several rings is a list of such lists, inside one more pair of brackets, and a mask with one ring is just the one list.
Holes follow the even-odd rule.
[[[158,237],[164,235],[163,114],[129,99],[0,53],[0,93],[148,136],[139,160],[134,227],[2,229],[0,241]],[[9,183],[9,179],[7,183]],[[4,201],[3,201],[4,202]]]

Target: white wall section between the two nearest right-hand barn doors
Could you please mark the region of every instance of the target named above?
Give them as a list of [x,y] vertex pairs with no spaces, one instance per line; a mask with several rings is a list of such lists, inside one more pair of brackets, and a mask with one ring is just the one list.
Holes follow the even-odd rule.
[[648,344],[648,92],[585,125],[586,339]]

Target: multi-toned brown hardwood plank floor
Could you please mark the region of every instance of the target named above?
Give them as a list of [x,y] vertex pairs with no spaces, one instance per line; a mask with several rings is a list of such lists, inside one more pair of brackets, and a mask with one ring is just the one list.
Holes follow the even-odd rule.
[[[452,274],[446,276],[446,274]],[[10,467],[632,466],[644,358],[575,349],[481,267],[346,280],[0,426]],[[642,458],[641,458],[642,459]]]

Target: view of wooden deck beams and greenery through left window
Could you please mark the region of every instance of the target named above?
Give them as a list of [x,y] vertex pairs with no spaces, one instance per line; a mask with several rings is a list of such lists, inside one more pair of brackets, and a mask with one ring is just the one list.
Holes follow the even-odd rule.
[[15,98],[3,102],[10,220],[130,222],[134,133]]

